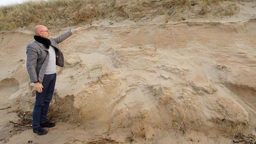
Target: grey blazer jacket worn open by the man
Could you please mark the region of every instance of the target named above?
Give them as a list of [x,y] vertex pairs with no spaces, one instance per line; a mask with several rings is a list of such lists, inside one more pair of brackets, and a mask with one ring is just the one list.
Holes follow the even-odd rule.
[[[50,38],[50,45],[55,49],[56,65],[64,66],[64,56],[58,44],[72,35],[71,31],[61,34],[57,38]],[[49,62],[49,52],[44,44],[34,41],[27,45],[27,72],[29,72],[31,83],[43,82],[44,73]]]

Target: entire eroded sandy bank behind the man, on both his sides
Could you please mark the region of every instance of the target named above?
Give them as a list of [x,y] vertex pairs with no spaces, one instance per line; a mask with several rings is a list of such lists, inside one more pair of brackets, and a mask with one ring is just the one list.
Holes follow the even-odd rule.
[[[217,143],[206,133],[219,133],[225,143],[247,135],[256,123],[255,22],[89,27],[60,44],[66,65],[58,69],[52,106],[72,99],[75,121],[120,142]],[[32,36],[1,34],[3,106],[32,111],[25,62]],[[85,132],[73,133],[82,139]]]

